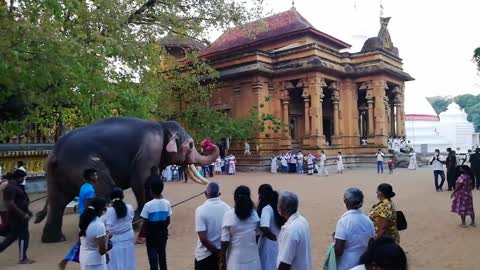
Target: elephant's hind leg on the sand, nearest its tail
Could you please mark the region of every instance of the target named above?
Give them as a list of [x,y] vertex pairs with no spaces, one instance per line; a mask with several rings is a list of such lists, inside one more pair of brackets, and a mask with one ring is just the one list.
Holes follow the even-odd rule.
[[75,198],[75,195],[67,195],[55,190],[57,189],[49,190],[49,209],[47,221],[42,233],[43,243],[55,243],[66,240],[62,232],[63,213],[65,207]]

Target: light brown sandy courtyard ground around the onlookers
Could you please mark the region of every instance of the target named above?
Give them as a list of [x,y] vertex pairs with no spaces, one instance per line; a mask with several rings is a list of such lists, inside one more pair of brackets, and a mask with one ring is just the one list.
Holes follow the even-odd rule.
[[[408,171],[398,169],[393,175],[378,175],[374,169],[345,171],[341,175],[329,177],[273,175],[267,173],[241,173],[236,176],[220,176],[216,180],[222,184],[223,199],[233,201],[233,191],[240,184],[248,185],[257,200],[260,184],[270,183],[278,190],[294,191],[300,198],[300,212],[310,222],[313,243],[314,269],[320,268],[325,249],[331,241],[338,218],[345,211],[342,202],[343,191],[351,186],[361,188],[366,196],[364,210],[376,202],[376,186],[381,182],[391,183],[397,193],[395,203],[403,210],[409,222],[407,231],[401,232],[401,244],[408,252],[410,269],[478,269],[480,228],[460,228],[459,217],[449,212],[450,193],[437,193],[433,189],[430,169]],[[204,187],[189,183],[169,183],[165,197],[172,204],[198,194]],[[38,196],[38,195],[37,195]],[[34,196],[32,196],[34,198]],[[479,192],[474,194],[475,208],[480,209]],[[130,192],[128,200],[134,204]],[[196,241],[194,233],[194,210],[202,203],[198,197],[174,208],[170,238],[168,242],[168,265],[173,270],[193,269],[193,251]],[[43,202],[32,205],[37,211]],[[75,241],[77,216],[66,215],[64,233],[68,241],[56,244],[40,243],[43,224],[31,225],[30,257],[35,259],[35,269],[56,269],[56,263],[65,255]],[[138,269],[147,269],[146,249],[136,246]],[[0,254],[1,269],[32,269],[33,266],[16,265],[17,245],[13,244]],[[68,269],[79,269],[72,263]]]

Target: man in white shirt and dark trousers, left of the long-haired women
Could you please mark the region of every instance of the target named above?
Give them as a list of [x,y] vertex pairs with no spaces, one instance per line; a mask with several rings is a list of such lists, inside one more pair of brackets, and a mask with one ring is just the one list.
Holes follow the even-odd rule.
[[207,200],[195,210],[195,270],[217,270],[223,216],[230,206],[220,199],[220,186],[215,182],[207,185],[205,196]]

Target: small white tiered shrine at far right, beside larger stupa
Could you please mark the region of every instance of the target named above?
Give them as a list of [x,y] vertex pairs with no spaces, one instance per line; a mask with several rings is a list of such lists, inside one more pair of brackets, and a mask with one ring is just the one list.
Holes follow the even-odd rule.
[[447,110],[440,113],[439,131],[450,141],[451,148],[457,153],[466,153],[468,149],[472,149],[475,128],[467,120],[467,113],[457,103],[450,103]]

